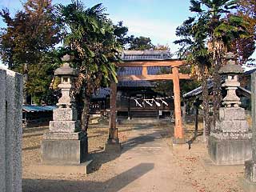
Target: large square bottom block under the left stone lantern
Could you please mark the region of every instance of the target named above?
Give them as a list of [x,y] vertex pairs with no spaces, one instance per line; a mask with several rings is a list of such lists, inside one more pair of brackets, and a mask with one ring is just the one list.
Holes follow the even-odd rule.
[[42,140],[42,163],[75,165],[86,162],[88,138],[82,133],[48,133]]

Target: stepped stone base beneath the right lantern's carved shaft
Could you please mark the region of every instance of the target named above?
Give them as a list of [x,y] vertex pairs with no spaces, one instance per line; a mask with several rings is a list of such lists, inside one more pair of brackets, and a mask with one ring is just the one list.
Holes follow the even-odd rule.
[[251,133],[241,107],[220,108],[208,139],[208,153],[218,165],[239,165],[252,157]]

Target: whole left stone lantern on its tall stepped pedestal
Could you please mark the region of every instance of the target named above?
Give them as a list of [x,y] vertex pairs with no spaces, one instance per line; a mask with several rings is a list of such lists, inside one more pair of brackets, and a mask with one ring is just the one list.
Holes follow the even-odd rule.
[[54,110],[54,121],[50,122],[49,133],[42,140],[42,162],[50,165],[79,165],[86,161],[88,152],[87,135],[81,130],[74,97],[74,78],[78,71],[70,67],[70,56],[62,58],[63,66],[54,71],[61,78],[58,87],[62,98]]

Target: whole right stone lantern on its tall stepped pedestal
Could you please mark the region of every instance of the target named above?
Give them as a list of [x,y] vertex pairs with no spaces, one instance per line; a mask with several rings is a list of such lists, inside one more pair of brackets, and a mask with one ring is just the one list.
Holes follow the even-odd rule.
[[210,158],[218,165],[243,164],[251,158],[251,133],[246,121],[245,110],[236,94],[240,83],[238,74],[242,74],[242,66],[235,63],[233,53],[226,54],[226,65],[220,74],[226,75],[222,85],[226,88],[226,97],[222,99],[219,118],[210,130],[208,152]]

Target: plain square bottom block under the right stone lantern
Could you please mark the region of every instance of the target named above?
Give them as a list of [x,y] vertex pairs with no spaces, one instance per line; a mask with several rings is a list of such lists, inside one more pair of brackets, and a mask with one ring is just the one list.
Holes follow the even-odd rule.
[[208,153],[217,165],[244,164],[252,156],[251,139],[219,139],[210,136]]

